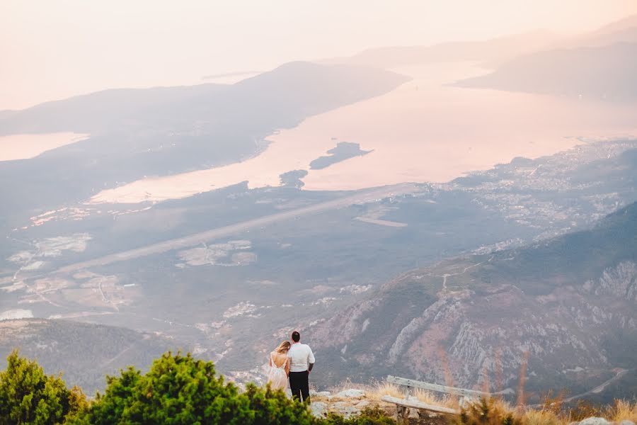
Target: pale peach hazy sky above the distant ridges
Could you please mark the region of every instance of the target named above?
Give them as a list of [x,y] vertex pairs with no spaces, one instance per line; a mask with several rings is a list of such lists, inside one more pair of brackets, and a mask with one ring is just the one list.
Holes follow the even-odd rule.
[[0,110],[384,45],[574,33],[637,0],[0,0]]

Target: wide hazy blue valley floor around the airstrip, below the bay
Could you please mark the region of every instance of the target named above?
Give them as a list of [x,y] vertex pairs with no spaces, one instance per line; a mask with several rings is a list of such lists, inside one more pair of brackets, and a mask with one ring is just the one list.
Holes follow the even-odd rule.
[[[0,314],[23,309],[34,317],[159,332],[206,350],[225,375],[246,380],[272,346],[289,337],[289,329],[307,329],[314,346],[313,322],[368,299],[399,273],[590,227],[637,199],[636,170],[637,141],[619,140],[517,158],[449,184],[418,185],[408,195],[384,188],[386,195],[367,201],[365,191],[234,187],[128,214],[127,205],[82,220],[59,212],[23,237],[10,234],[0,246]],[[298,214],[350,196],[358,199],[355,205]],[[244,226],[280,212],[289,215],[270,225]],[[205,245],[94,262],[227,226],[235,230],[210,236]],[[84,261],[93,266],[59,271]],[[404,308],[401,300],[396,308]],[[319,355],[337,358],[343,345]],[[377,366],[377,377],[391,370]],[[316,379],[332,370],[321,360]]]

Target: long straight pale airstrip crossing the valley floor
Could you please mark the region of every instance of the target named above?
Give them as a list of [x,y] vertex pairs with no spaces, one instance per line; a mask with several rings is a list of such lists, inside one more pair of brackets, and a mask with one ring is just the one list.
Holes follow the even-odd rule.
[[117,254],[110,254],[98,259],[70,264],[69,266],[64,266],[57,269],[56,273],[74,273],[75,271],[79,271],[84,268],[105,266],[106,264],[116,263],[118,261],[128,261],[143,256],[160,254],[162,252],[171,251],[173,249],[183,249],[189,246],[196,246],[198,244],[202,244],[214,239],[229,237],[233,234],[246,232],[246,230],[272,225],[275,222],[294,220],[294,218],[301,217],[303,215],[311,215],[327,210],[335,210],[337,208],[344,208],[354,204],[375,202],[389,196],[406,195],[408,193],[417,192],[418,190],[418,187],[412,183],[401,183],[394,186],[384,186],[383,188],[372,189],[370,191],[365,191],[364,193],[357,193],[356,195],[346,196],[344,198],[328,200],[323,203],[316,203],[314,205],[298,208],[296,210],[277,212],[277,214],[266,215],[265,217],[259,217],[253,220],[236,223],[234,225],[218,227],[217,229],[210,229],[206,232],[190,234],[185,237],[170,239],[164,242],[159,242],[157,244],[151,244],[137,249],[130,249],[129,251],[122,251]]

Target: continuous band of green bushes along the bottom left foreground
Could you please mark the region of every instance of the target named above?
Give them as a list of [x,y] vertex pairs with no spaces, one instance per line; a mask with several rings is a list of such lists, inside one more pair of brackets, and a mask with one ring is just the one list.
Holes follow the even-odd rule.
[[331,414],[315,418],[308,406],[282,391],[248,384],[240,391],[224,382],[210,361],[168,352],[148,373],[130,367],[106,378],[104,394],[92,402],[67,389],[60,376],[47,376],[35,361],[13,351],[0,373],[0,425],[4,424],[394,424],[381,409],[357,418]]

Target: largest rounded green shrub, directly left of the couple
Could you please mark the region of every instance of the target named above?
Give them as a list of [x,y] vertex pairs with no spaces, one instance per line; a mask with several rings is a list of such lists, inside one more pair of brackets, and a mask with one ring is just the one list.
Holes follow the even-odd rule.
[[166,353],[149,372],[128,368],[108,377],[88,412],[92,424],[314,424],[306,405],[281,391],[248,385],[239,392],[214,364]]

